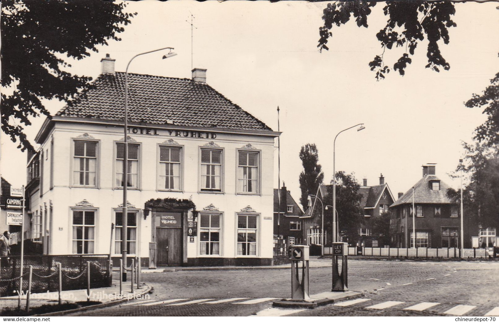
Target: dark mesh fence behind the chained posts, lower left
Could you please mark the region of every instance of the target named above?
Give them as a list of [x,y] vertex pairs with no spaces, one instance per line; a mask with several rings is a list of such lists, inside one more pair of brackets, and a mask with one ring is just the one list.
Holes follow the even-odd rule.
[[[28,288],[26,276],[29,266],[32,266],[32,293],[58,291],[58,263],[61,264],[63,291],[85,289],[87,261],[90,262],[90,287],[111,286],[109,255],[26,255],[23,259],[22,289]],[[0,257],[0,296],[18,295],[20,281],[20,256]]]

